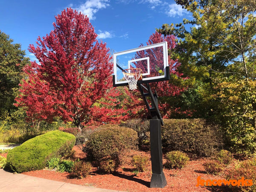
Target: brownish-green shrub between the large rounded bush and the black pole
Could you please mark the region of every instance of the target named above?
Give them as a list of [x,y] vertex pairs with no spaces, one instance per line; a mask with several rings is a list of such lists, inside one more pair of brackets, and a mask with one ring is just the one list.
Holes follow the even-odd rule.
[[146,134],[149,131],[149,120],[131,119],[122,123],[121,126],[131,128],[137,132],[140,146],[143,145],[145,141],[150,140],[148,134]]

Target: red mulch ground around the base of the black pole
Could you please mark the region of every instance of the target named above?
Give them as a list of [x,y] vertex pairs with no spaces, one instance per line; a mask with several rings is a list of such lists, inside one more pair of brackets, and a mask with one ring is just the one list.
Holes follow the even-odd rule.
[[[86,154],[81,150],[81,146],[74,146],[73,148],[76,151],[76,158],[84,159]],[[145,154],[150,157],[150,152],[144,151],[131,151],[128,155],[127,162],[135,154]],[[1,154],[5,155],[6,154]],[[126,163],[118,169],[114,174],[110,175],[101,175],[97,172],[96,168],[93,168],[93,172],[83,179],[71,178],[69,173],[56,172],[52,170],[37,170],[31,172],[24,172],[24,175],[31,175],[34,177],[41,177],[45,179],[62,181],[65,183],[73,183],[83,186],[93,186],[103,189],[113,189],[119,191],[133,191],[133,192],[224,192],[231,191],[225,186],[214,186],[206,187],[199,186],[197,187],[197,177],[201,176],[201,179],[224,179],[221,175],[208,175],[204,170],[203,163],[207,161],[206,158],[199,160],[191,160],[189,164],[181,169],[164,169],[167,185],[164,188],[150,188],[151,180],[151,164],[148,165],[148,169],[145,172],[135,173],[132,172],[132,166],[130,163]]]

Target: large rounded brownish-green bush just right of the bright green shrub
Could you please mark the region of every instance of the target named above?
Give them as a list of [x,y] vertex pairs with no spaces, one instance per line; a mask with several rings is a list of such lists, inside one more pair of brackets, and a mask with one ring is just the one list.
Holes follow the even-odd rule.
[[127,150],[135,148],[136,144],[136,131],[118,125],[103,125],[90,135],[83,151],[101,171],[110,173],[118,169]]

